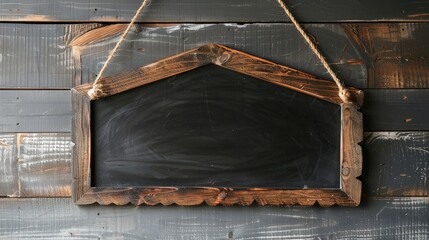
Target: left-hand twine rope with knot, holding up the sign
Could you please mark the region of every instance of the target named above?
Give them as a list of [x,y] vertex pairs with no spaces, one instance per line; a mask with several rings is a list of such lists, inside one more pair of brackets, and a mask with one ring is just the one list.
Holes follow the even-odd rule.
[[107,58],[106,62],[104,63],[103,67],[101,68],[100,72],[98,73],[97,78],[94,81],[94,84],[92,85],[92,88],[88,90],[88,95],[91,99],[97,99],[104,95],[102,87],[103,85],[100,83],[100,79],[103,76],[104,71],[106,70],[109,63],[112,61],[113,57],[115,56],[116,52],[118,51],[119,47],[121,46],[122,42],[127,37],[128,33],[131,30],[131,27],[134,25],[134,23],[137,21],[138,16],[143,11],[143,9],[148,5],[149,0],[144,0],[140,8],[137,10],[134,17],[131,19],[130,24],[128,24],[128,27],[125,29],[124,33],[122,34],[119,41],[116,43],[116,46],[113,48],[113,50],[110,52],[109,57]]

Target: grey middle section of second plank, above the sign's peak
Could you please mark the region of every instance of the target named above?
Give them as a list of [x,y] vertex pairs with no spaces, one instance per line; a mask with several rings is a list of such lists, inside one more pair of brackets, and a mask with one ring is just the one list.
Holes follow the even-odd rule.
[[[125,27],[125,26],[124,26]],[[366,65],[359,47],[338,24],[305,25],[338,75],[349,86],[365,87]],[[137,31],[136,31],[137,30]],[[73,47],[81,62],[82,83],[94,81],[123,29],[89,31]],[[95,35],[94,35],[95,34]],[[87,44],[85,44],[87,43]],[[257,57],[330,79],[320,61],[291,24],[139,25],[128,35],[105,76],[153,63],[207,43],[219,43]],[[72,44],[73,45],[73,44]]]

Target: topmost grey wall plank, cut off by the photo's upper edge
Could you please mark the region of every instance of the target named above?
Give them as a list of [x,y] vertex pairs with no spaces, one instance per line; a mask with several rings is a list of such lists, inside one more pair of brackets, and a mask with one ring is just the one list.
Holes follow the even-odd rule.
[[[426,1],[288,0],[303,22],[428,20]],[[141,1],[2,0],[0,21],[129,21]],[[276,0],[151,1],[139,19],[144,22],[279,22],[288,21]]]

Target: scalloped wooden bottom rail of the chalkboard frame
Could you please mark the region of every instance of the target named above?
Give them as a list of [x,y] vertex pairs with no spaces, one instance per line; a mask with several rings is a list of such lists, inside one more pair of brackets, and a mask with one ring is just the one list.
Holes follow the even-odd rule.
[[209,206],[241,205],[253,203],[263,205],[300,205],[320,206],[332,205],[356,206],[353,199],[337,189],[238,189],[231,188],[97,188],[92,187],[75,201],[78,205],[98,203],[100,205],[180,205],[194,206],[207,204]]

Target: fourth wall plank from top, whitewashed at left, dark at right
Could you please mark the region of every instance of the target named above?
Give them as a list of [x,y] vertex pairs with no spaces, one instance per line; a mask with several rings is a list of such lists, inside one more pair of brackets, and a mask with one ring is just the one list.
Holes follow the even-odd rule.
[[[3,142],[15,141],[3,134]],[[1,179],[7,193],[15,197],[70,196],[71,146],[69,133],[19,134],[17,151],[1,147],[1,159],[19,159],[22,190],[16,187],[18,166],[13,162],[0,165]],[[364,196],[401,197],[429,196],[428,157],[429,132],[372,132],[366,133],[362,144]],[[7,143],[6,143],[7,144]],[[12,164],[12,165],[11,165]],[[1,184],[1,183],[0,183]],[[15,193],[16,192],[16,193]]]

